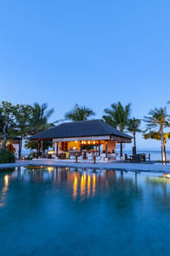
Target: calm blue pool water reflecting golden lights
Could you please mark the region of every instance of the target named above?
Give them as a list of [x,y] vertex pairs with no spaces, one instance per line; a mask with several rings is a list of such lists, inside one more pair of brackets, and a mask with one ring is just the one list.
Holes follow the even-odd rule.
[[0,173],[0,255],[170,255],[170,179],[73,168]]

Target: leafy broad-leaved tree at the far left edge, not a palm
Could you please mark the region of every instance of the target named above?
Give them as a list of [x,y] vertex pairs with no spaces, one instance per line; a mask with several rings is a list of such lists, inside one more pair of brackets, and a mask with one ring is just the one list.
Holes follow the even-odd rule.
[[6,148],[6,142],[9,134],[12,134],[13,129],[16,125],[16,118],[19,114],[20,105],[13,105],[8,101],[2,101],[0,105],[0,113],[1,113],[1,128],[3,134],[3,143],[1,145],[1,149],[4,150]]

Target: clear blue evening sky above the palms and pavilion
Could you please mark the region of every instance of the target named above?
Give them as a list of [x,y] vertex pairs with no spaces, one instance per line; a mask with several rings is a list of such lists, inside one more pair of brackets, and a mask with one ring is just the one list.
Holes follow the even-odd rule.
[[[52,120],[75,103],[100,118],[120,100],[142,118],[170,100],[169,10],[169,0],[1,1],[0,100],[47,102]],[[160,149],[141,135],[138,145]]]

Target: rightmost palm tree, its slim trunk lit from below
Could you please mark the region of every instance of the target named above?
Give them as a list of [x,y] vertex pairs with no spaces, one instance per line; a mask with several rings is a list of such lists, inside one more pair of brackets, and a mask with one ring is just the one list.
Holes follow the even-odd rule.
[[[166,161],[166,149],[164,141],[164,128],[168,127],[169,115],[167,115],[167,107],[154,110],[150,110],[150,117],[144,117],[144,122],[146,122],[146,131],[152,130],[152,132],[157,132],[161,135],[161,161]],[[146,132],[145,131],[145,132]]]

